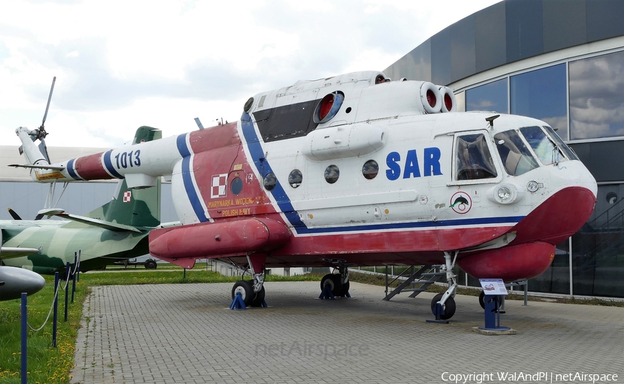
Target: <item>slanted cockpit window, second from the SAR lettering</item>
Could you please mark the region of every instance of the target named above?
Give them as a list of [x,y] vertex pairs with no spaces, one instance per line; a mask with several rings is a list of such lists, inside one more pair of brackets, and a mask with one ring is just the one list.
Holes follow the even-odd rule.
[[516,131],[504,131],[496,134],[494,141],[496,149],[501,155],[505,171],[511,176],[519,176],[539,167]]

